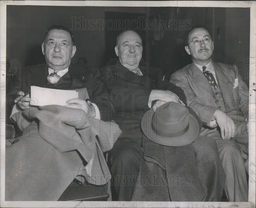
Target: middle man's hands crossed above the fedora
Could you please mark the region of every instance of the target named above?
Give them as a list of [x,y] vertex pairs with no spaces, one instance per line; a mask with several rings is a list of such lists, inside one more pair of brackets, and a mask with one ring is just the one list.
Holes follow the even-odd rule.
[[151,107],[152,101],[157,100],[153,105],[153,111],[164,103],[173,101],[179,103],[179,97],[169,90],[152,90],[148,99],[148,107]]

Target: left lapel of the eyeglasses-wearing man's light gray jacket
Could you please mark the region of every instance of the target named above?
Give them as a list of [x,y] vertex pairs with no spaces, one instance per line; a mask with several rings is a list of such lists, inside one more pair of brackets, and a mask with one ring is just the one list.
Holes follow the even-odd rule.
[[212,87],[211,87],[208,79],[206,78],[206,76],[204,76],[204,74],[200,71],[200,69],[198,69],[198,67],[194,63],[189,65],[188,72],[189,72],[190,76],[192,77],[191,80],[195,84],[197,84],[200,87],[204,88],[209,93],[211,93],[212,96],[215,97],[214,92],[212,90]]

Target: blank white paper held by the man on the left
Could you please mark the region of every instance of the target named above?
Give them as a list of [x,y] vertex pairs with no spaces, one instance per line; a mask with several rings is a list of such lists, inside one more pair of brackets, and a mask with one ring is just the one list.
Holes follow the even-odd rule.
[[30,105],[67,105],[66,101],[78,98],[75,90],[56,90],[31,86]]

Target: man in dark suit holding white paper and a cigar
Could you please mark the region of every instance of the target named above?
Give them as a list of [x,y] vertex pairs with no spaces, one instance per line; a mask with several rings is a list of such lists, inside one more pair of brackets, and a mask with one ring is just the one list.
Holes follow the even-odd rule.
[[[71,64],[71,58],[76,52],[72,32],[63,26],[52,26],[42,43],[42,53],[46,64],[26,67],[23,72],[22,91],[18,92],[19,100],[16,107],[19,110],[30,108],[30,97],[24,92],[30,86],[54,88],[61,90],[87,88],[92,102],[95,101],[101,108],[108,107],[108,92],[100,80],[98,69],[83,69]],[[67,101],[69,107],[83,109],[89,117],[99,114],[97,105],[82,99]],[[71,105],[72,104],[72,105]],[[96,110],[96,111],[95,111]]]

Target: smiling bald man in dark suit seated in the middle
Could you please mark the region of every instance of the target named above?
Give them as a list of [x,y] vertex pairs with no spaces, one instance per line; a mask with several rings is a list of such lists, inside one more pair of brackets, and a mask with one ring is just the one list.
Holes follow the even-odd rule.
[[151,106],[156,110],[165,102],[185,101],[186,97],[182,89],[164,80],[160,69],[140,63],[142,39],[136,32],[122,32],[115,52],[119,61],[100,68],[115,109],[111,118],[123,131],[108,156],[114,185],[112,199],[130,201],[140,169],[141,119],[145,111]]

